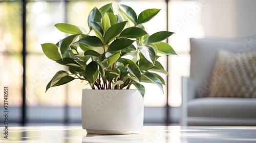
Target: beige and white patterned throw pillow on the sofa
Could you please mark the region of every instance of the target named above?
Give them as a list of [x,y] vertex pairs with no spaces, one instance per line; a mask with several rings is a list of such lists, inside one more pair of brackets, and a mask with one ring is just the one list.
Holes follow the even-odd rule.
[[208,97],[256,98],[256,52],[219,50]]

